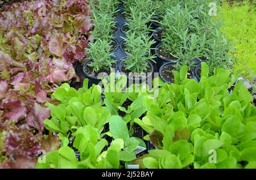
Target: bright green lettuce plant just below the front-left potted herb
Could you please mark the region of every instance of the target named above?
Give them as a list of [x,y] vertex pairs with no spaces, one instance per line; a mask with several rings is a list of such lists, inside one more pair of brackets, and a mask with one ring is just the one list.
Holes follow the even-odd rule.
[[101,87],[93,84],[88,89],[88,79],[79,91],[64,83],[52,98],[61,104],[46,104],[51,109],[51,119],[46,119],[44,125],[48,130],[58,132],[63,143],[68,143],[79,127],[90,125],[101,132],[110,118],[108,108],[102,107]]

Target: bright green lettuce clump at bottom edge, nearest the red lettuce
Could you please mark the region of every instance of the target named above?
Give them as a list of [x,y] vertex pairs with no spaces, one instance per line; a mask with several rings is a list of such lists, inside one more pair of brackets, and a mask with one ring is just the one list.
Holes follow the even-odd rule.
[[[102,151],[108,142],[101,139],[97,128],[92,126],[80,127],[75,134],[73,146],[80,152],[80,161],[72,148],[63,145],[59,150],[48,153],[46,157],[39,158],[38,169],[111,169],[119,168],[118,152],[121,145],[114,140],[107,151]],[[46,161],[43,161],[45,158]]]

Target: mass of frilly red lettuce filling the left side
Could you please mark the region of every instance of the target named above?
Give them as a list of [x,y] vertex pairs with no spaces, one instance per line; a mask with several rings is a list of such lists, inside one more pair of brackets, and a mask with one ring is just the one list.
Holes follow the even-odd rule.
[[72,63],[86,57],[92,37],[88,5],[22,1],[0,12],[0,131],[6,132],[0,168],[34,168],[40,149],[59,148],[56,136],[42,136],[50,115],[43,104],[52,101],[55,84],[76,77]]

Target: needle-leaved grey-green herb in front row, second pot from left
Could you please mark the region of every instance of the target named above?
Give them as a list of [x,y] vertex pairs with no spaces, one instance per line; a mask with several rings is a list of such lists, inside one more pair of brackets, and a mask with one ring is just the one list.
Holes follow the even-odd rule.
[[137,37],[135,33],[128,36],[125,39],[125,51],[128,54],[128,57],[123,61],[125,69],[133,72],[142,74],[147,70],[148,63],[147,61],[153,60],[155,55],[150,54],[151,45],[154,44],[154,40],[151,40],[151,37],[146,35],[141,35]]

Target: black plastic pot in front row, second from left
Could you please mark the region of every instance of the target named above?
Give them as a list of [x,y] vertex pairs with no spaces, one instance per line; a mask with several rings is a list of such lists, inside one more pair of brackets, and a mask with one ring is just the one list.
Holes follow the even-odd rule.
[[[122,61],[119,62],[119,65],[118,65],[118,68],[119,68],[119,71],[121,74],[125,74],[125,72],[122,71],[122,67],[123,67],[123,61],[125,61],[125,59],[123,59]],[[154,67],[152,65],[152,63],[150,61],[147,61],[148,65],[150,65],[151,67],[151,72],[150,74],[148,74],[147,76],[144,76],[144,77],[139,77],[139,78],[135,78],[133,76],[127,76],[127,87],[129,87],[129,82],[130,83],[133,83],[133,84],[141,84],[142,82],[146,82],[146,83],[149,83],[149,80],[152,79],[152,75],[153,75],[153,72],[154,72]]]

